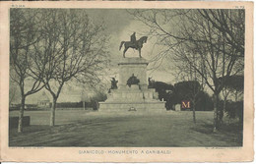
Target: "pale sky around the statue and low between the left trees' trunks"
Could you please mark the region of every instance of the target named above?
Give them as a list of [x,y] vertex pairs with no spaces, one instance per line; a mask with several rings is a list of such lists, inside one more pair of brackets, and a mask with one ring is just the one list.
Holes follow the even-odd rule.
[[[111,59],[111,68],[107,71],[104,79],[108,81],[110,86],[110,80],[112,77],[118,80],[118,68],[117,64],[123,58],[122,51],[119,51],[119,45],[121,41],[130,40],[130,35],[136,31],[137,39],[143,36],[143,33],[147,33],[149,28],[146,27],[143,23],[136,21],[133,16],[131,16],[125,9],[85,9],[92,19],[93,22],[99,24],[103,22],[105,24],[106,33],[109,34],[109,50],[110,50],[110,59]],[[152,39],[148,39],[147,43],[144,44],[142,48],[142,57],[151,60],[153,56],[158,55],[160,49],[154,46],[155,43]],[[126,52],[126,57],[139,57],[139,53],[136,50],[129,49]],[[148,66],[148,78],[151,77],[155,81],[160,82],[170,82],[175,83],[173,76],[170,73],[164,72],[161,70],[152,70],[152,63]],[[29,84],[30,85],[30,84]],[[72,87],[72,88],[71,88]],[[84,88],[84,87],[83,87]],[[87,87],[84,88],[90,96],[94,94],[94,91],[88,90]],[[72,93],[70,92],[72,90]],[[46,95],[51,99],[51,95],[45,89],[40,90],[32,96],[29,96],[27,101],[28,103],[37,102],[39,95],[45,92]],[[65,95],[71,95],[69,97],[75,97],[76,100],[81,100],[81,87],[74,84],[74,82],[69,82],[64,85],[63,90],[61,91],[58,102],[66,102]],[[92,95],[91,95],[92,94]],[[19,102],[19,101],[18,101]]]

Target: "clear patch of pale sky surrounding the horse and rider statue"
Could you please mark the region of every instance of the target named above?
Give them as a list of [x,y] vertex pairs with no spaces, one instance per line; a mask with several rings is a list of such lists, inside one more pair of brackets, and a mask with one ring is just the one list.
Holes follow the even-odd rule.
[[[135,31],[137,39],[143,36],[149,27],[143,23],[136,21],[125,9],[87,9],[90,18],[97,24],[103,22],[106,27],[106,32],[110,35],[109,50],[112,61],[112,68],[110,69],[110,77],[117,77],[117,63],[122,59],[122,51],[119,51],[121,41],[130,40],[130,35]],[[142,57],[151,60],[153,56],[158,55],[160,49],[154,46],[155,42],[149,38],[148,42],[142,48]],[[138,57],[138,51],[128,49],[126,57]],[[148,66],[148,77],[152,77],[155,81],[174,83],[174,77],[161,70],[152,70],[153,63]]]

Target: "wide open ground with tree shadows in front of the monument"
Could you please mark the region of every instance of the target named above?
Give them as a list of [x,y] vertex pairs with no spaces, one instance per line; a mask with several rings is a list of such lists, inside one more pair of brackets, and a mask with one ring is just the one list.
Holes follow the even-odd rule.
[[[10,116],[18,115],[17,111]],[[216,134],[213,112],[155,114],[57,111],[56,127],[49,127],[49,111],[26,111],[32,126],[23,134],[10,130],[10,146],[241,146],[242,129],[224,125]]]

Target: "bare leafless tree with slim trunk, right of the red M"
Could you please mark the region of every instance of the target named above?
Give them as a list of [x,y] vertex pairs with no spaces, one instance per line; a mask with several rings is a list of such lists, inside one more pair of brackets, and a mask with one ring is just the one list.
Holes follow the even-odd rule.
[[[176,53],[176,57],[192,66],[213,91],[214,131],[217,131],[224,116],[224,110],[219,107],[220,92],[224,88],[224,80],[220,81],[220,77],[229,77],[242,72],[243,68],[239,66],[239,61],[243,60],[242,51],[237,50],[237,47],[230,46],[226,34],[216,28],[211,21],[204,19],[205,17],[200,11],[197,12],[186,15],[190,26],[182,29],[182,35],[187,35],[188,41],[180,46],[187,52],[181,50]],[[232,14],[222,10],[204,12]],[[196,54],[197,61],[201,62],[195,63],[190,54]]]

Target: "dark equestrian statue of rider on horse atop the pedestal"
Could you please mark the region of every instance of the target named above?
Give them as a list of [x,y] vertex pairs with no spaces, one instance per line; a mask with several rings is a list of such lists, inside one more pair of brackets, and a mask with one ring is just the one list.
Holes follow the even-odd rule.
[[141,49],[143,47],[144,43],[147,43],[147,36],[142,36],[139,40],[136,40],[135,32],[131,35],[131,41],[122,41],[119,47],[119,51],[121,50],[123,44],[124,44],[124,50],[123,50],[123,57],[125,58],[125,52],[128,50],[128,48],[133,48],[139,51],[140,58],[141,55]]

